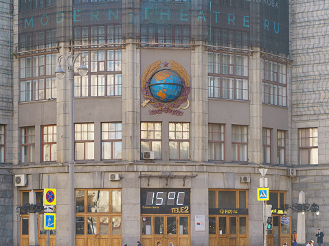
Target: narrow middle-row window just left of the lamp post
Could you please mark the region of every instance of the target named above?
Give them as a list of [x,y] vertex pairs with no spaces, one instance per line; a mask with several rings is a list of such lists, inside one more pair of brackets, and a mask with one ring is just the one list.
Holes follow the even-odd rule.
[[43,162],[56,162],[56,125],[43,126]]

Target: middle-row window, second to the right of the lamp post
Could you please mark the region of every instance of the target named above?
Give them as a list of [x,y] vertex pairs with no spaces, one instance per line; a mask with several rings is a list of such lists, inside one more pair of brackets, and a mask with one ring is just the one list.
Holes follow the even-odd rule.
[[122,159],[122,123],[102,123],[102,160]]

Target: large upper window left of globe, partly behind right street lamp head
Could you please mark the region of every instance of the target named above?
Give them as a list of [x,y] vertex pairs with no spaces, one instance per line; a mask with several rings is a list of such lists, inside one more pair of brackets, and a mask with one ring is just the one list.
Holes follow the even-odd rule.
[[[109,97],[122,95],[121,49],[84,51],[87,76],[74,79],[74,97]],[[77,58],[77,66],[81,57]]]

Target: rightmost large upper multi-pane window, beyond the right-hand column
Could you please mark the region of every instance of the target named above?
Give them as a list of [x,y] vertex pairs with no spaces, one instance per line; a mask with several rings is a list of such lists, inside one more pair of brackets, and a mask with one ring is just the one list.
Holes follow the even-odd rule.
[[286,80],[286,64],[263,60],[263,103],[286,107]]

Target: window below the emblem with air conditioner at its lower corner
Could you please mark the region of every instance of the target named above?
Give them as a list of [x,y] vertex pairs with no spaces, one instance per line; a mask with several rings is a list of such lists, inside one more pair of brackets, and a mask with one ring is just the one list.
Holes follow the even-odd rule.
[[143,158],[144,151],[153,151],[155,153],[155,159],[161,160],[161,138],[161,122],[141,123],[141,159]]

